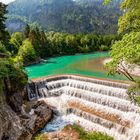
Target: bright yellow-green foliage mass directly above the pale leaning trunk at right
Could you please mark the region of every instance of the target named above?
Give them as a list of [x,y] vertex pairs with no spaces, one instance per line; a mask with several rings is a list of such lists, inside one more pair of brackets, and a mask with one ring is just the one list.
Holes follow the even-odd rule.
[[129,63],[140,64],[140,32],[131,32],[112,46],[111,57],[119,64],[125,60]]

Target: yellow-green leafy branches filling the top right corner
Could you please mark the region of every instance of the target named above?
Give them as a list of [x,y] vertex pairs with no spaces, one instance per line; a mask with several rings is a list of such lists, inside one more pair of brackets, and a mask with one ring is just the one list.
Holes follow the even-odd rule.
[[140,31],[140,1],[124,0],[121,10],[125,11],[119,19],[119,33],[126,31]]

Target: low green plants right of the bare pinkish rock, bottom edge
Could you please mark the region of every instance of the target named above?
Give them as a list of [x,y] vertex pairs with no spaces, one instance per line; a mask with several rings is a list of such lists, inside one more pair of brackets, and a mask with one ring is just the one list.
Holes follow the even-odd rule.
[[73,125],[72,128],[79,133],[81,140],[113,140],[112,137],[100,132],[86,132],[83,128]]

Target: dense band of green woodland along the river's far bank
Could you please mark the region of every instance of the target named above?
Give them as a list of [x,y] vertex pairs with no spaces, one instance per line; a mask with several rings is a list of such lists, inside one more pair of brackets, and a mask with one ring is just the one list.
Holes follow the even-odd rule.
[[10,46],[7,48],[15,61],[25,65],[40,58],[58,55],[72,55],[94,51],[108,51],[118,35],[66,34],[44,32],[39,28],[26,26],[24,33],[15,32],[11,35]]

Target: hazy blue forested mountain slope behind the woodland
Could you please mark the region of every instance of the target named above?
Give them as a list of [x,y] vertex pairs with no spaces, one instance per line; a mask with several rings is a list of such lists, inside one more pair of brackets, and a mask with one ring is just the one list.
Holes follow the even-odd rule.
[[29,23],[47,31],[68,33],[116,33],[121,15],[119,0],[108,6],[102,0],[16,0],[8,6],[6,25],[22,31]]

